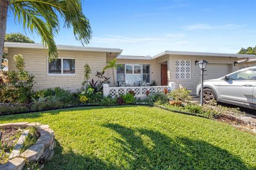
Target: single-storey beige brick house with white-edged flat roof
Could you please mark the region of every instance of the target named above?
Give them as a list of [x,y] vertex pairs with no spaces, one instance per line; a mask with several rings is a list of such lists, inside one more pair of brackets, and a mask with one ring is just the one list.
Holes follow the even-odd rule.
[[[96,71],[102,71],[107,62],[117,58],[122,64],[115,70],[116,82],[125,82],[125,86],[139,86],[143,81],[148,84],[155,81],[157,86],[166,86],[175,82],[178,87],[182,84],[195,94],[200,82],[200,70],[196,64],[199,60],[209,62],[206,66],[205,79],[223,77],[238,70],[239,58],[255,58],[254,55],[178,52],[166,50],[155,56],[125,56],[118,48],[96,48],[58,45],[59,58],[49,63],[47,52],[42,44],[5,43],[8,53],[9,70],[15,70],[12,56],[22,54],[25,57],[25,70],[35,76],[35,90],[50,87],[60,87],[69,90],[81,88],[84,80],[84,65],[90,65],[90,78],[97,80]],[[106,71],[111,77],[112,71]],[[117,86],[117,84],[116,84]]]

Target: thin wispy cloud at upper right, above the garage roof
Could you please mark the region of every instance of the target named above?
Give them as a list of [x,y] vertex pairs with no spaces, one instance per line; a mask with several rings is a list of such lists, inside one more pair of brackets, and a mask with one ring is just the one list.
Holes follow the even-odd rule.
[[245,27],[246,25],[236,25],[236,24],[225,24],[225,25],[209,25],[209,24],[193,24],[184,27],[186,30],[210,30],[210,29],[235,29]]

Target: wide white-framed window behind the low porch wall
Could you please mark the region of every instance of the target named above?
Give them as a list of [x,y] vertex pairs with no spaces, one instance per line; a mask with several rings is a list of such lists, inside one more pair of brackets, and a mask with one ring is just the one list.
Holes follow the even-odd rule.
[[140,81],[150,83],[150,64],[121,64],[116,70],[116,80],[138,86]]

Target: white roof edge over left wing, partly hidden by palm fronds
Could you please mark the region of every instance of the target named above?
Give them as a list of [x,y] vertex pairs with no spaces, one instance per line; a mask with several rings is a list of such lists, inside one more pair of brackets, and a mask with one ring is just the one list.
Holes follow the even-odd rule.
[[[44,49],[43,44],[10,43],[10,42],[5,42],[4,47]],[[82,47],[82,46],[68,46],[68,45],[57,45],[57,49],[58,50],[78,50],[78,51],[85,51],[85,52],[109,52],[109,53],[118,53],[118,54],[121,54],[123,51],[122,49],[119,49],[119,48]]]

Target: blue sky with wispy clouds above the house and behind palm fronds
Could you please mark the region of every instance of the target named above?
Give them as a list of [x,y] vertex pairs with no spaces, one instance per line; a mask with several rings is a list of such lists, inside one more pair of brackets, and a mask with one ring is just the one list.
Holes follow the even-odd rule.
[[[237,53],[256,45],[256,0],[83,0],[83,12],[93,32],[87,46],[120,48],[122,55],[154,56],[165,50]],[[11,13],[6,32],[21,32],[41,43]],[[55,42],[82,46],[72,29],[62,27]]]

